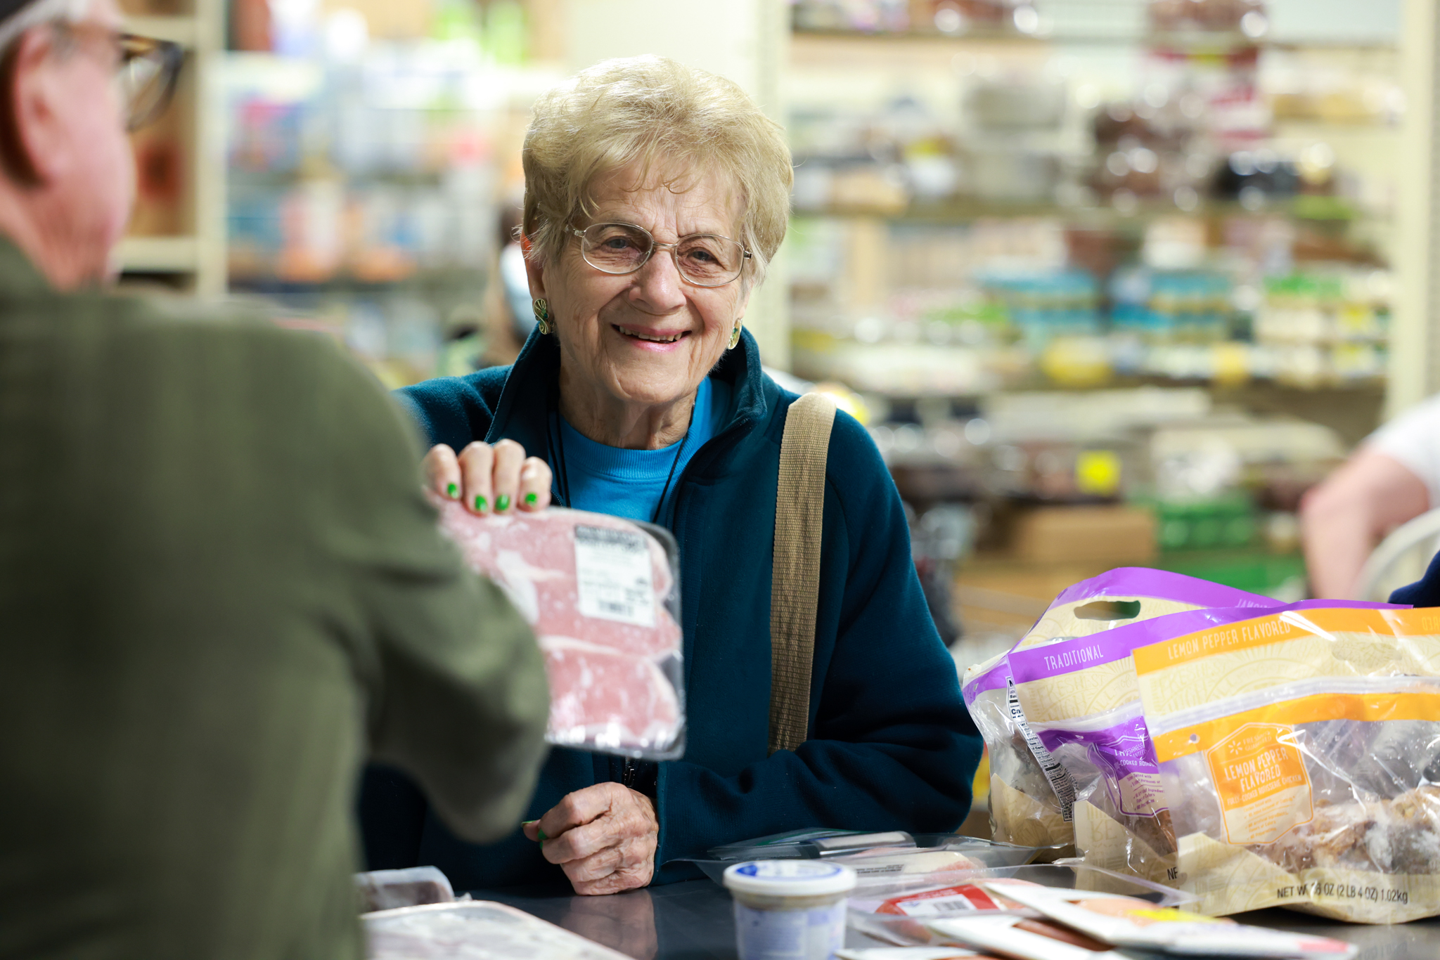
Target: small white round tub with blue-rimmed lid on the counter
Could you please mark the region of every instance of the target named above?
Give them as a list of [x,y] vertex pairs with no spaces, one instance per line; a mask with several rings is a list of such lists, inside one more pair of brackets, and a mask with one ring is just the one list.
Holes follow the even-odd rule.
[[855,874],[809,859],[733,864],[724,887],[734,897],[740,960],[829,960],[845,946],[845,900]]

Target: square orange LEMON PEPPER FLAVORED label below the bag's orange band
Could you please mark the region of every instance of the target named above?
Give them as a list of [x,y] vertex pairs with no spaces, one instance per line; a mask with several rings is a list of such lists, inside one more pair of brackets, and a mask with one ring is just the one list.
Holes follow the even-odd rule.
[[1280,724],[1246,724],[1205,751],[1230,843],[1272,843],[1315,815],[1293,734]]

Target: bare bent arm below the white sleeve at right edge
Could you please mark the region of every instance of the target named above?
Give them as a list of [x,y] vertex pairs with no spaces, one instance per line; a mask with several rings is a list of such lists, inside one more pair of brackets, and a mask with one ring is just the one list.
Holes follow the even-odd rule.
[[1430,508],[1430,492],[1395,458],[1364,445],[1300,501],[1300,533],[1310,589],[1351,599],[1375,545]]

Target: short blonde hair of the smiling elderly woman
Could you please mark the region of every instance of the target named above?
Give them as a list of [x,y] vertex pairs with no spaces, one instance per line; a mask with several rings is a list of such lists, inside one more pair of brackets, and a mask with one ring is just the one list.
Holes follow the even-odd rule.
[[[753,255],[750,284],[765,278],[785,239],[795,174],[783,130],[739,85],[675,60],[603,60],[547,91],[523,157],[523,229],[534,258],[559,256],[566,227],[595,210],[595,181],[635,163],[647,176],[675,164],[733,178],[744,203],[736,239]],[[665,186],[685,189],[678,180]]]

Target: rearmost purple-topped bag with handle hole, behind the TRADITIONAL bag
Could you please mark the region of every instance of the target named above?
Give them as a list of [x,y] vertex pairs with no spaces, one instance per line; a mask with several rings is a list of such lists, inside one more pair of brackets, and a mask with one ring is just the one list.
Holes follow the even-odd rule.
[[[1273,604],[1269,597],[1178,573],[1120,567],[1063,590],[1011,652],[1182,610]],[[1076,784],[1030,728],[1009,653],[968,669],[962,692],[989,748],[992,836],[1007,843],[1056,846],[1057,856],[1070,855]]]

